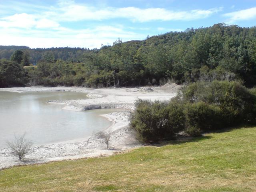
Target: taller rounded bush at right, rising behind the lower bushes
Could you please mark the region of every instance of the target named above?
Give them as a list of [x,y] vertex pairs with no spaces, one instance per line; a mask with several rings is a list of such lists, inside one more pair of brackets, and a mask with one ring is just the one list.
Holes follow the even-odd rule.
[[253,96],[241,82],[196,82],[182,90],[181,95],[184,103],[204,102],[219,107],[218,110],[221,110],[221,116],[225,119],[224,126],[243,122],[252,110],[250,105]]

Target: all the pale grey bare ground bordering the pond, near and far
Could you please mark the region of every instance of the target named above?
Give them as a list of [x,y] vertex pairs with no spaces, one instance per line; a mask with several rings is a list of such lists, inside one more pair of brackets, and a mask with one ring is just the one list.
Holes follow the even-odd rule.
[[101,89],[81,87],[0,88],[0,91],[10,92],[74,91],[87,93],[89,99],[53,100],[48,102],[49,104],[65,104],[64,109],[66,110],[83,111],[99,108],[120,108],[128,110],[102,114],[102,116],[113,122],[112,126],[106,130],[111,135],[111,149],[109,150],[106,149],[103,139],[95,135],[82,140],[70,140],[50,145],[34,146],[26,155],[23,162],[20,162],[9,148],[1,148],[0,168],[20,164],[36,164],[56,160],[107,156],[141,146],[136,140],[134,132],[128,126],[130,111],[134,110],[134,101],[138,98],[162,101],[170,100],[181,88],[182,86],[176,84],[166,84],[161,87]]

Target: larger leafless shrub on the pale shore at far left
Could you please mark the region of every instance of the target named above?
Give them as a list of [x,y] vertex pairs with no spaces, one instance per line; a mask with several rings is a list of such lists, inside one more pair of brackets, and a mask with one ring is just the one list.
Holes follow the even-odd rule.
[[14,141],[7,142],[8,146],[14,151],[20,161],[23,160],[24,156],[28,153],[30,147],[32,146],[32,142],[28,141],[25,136],[26,133],[20,137],[14,135]]

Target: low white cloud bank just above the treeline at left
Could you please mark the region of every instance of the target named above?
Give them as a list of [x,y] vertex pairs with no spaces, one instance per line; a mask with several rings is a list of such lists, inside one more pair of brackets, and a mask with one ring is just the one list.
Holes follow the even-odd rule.
[[83,30],[72,30],[63,27],[54,29],[0,28],[0,42],[1,45],[25,45],[30,48],[48,48],[52,46],[100,48],[101,44],[112,44],[118,37],[123,41],[145,38],[145,35],[113,26],[97,26]]

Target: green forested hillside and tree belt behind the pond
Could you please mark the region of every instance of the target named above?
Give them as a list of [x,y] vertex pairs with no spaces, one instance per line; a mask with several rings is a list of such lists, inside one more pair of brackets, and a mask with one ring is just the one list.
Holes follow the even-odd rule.
[[[17,48],[11,47],[1,46],[0,57],[10,59]],[[215,24],[142,41],[117,40],[100,49],[23,47],[22,52],[27,61],[23,58],[18,63],[38,67],[22,69],[19,84],[101,87],[234,79],[256,84],[255,26]],[[17,62],[13,55],[11,60]],[[1,66],[4,65],[0,64],[0,72]],[[17,82],[6,83],[2,78],[0,86],[14,84]]]

